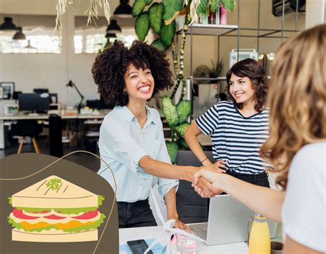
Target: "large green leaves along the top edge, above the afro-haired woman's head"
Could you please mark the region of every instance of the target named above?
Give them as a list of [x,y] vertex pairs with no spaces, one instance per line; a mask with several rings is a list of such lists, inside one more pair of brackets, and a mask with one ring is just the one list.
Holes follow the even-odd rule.
[[150,28],[157,35],[152,45],[160,50],[166,50],[173,44],[175,36],[175,18],[178,15],[190,14],[191,22],[197,20],[197,16],[217,10],[221,1],[229,11],[235,10],[235,0],[135,0],[132,14],[135,16],[135,32],[142,41],[146,38]]

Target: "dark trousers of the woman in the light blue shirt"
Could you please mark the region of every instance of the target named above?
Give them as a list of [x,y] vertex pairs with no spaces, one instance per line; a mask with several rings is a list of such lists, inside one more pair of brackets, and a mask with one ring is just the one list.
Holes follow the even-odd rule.
[[134,203],[118,202],[119,228],[157,226],[149,199]]

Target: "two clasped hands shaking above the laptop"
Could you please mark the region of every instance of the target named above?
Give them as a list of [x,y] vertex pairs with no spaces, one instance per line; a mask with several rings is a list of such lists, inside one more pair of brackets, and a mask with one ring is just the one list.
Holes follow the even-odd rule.
[[223,163],[224,161],[219,160],[214,164],[202,166],[193,174],[191,186],[202,198],[213,198],[224,192],[223,180],[226,166]]

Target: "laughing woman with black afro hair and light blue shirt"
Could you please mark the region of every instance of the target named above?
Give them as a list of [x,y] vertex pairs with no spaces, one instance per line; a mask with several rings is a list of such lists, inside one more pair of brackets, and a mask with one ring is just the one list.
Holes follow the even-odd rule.
[[[141,41],[134,41],[130,49],[116,41],[97,56],[91,69],[98,92],[115,106],[100,127],[99,148],[116,178],[120,227],[156,225],[148,198],[151,187],[158,185],[168,219],[175,219],[175,227],[190,230],[178,220],[179,182],[173,179],[191,181],[199,168],[171,165],[160,114],[146,106],[155,92],[173,84],[165,57]],[[104,163],[98,174],[115,186]]]

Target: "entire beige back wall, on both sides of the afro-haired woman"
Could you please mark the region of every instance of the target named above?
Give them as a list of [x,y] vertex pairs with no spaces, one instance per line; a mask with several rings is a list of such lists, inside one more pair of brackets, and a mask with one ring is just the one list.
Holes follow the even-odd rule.
[[[75,14],[83,15],[89,1],[76,1]],[[115,10],[118,0],[110,1],[111,11]],[[132,4],[131,1],[130,4]],[[257,3],[258,0],[241,1],[241,23],[240,27],[257,27]],[[56,0],[0,0],[1,14],[51,14],[55,15]],[[17,91],[30,92],[34,88],[48,88],[52,93],[58,93],[58,99],[63,104],[76,104],[79,97],[76,91],[67,91],[65,84],[73,80],[85,99],[98,97],[96,85],[91,78],[91,65],[96,54],[74,54],[74,12],[72,8],[67,9],[63,17],[63,51],[62,54],[0,54],[0,81],[14,81]],[[101,12],[102,13],[102,12]],[[261,27],[281,28],[281,18],[272,15],[271,1],[261,1]],[[285,28],[294,29],[295,15],[285,15]],[[19,21],[17,21],[17,25]],[[228,13],[228,23],[237,23],[237,10]],[[298,15],[298,29],[304,29],[305,18]],[[179,36],[181,41],[181,36]],[[224,71],[228,69],[228,52],[237,47],[237,38],[221,37],[220,54],[224,59]],[[276,51],[281,39],[260,39],[260,51]],[[240,48],[256,48],[257,39],[241,38]],[[217,60],[217,37],[215,36],[194,36],[193,38],[193,71],[199,65],[211,66],[211,59]],[[185,50],[185,76],[190,73],[190,36],[186,41]],[[168,52],[171,59],[171,52]],[[170,60],[171,65],[172,61]],[[171,66],[171,68],[173,68]],[[69,93],[69,96],[68,96]],[[165,92],[165,93],[171,93]],[[68,100],[69,99],[69,100]]]

